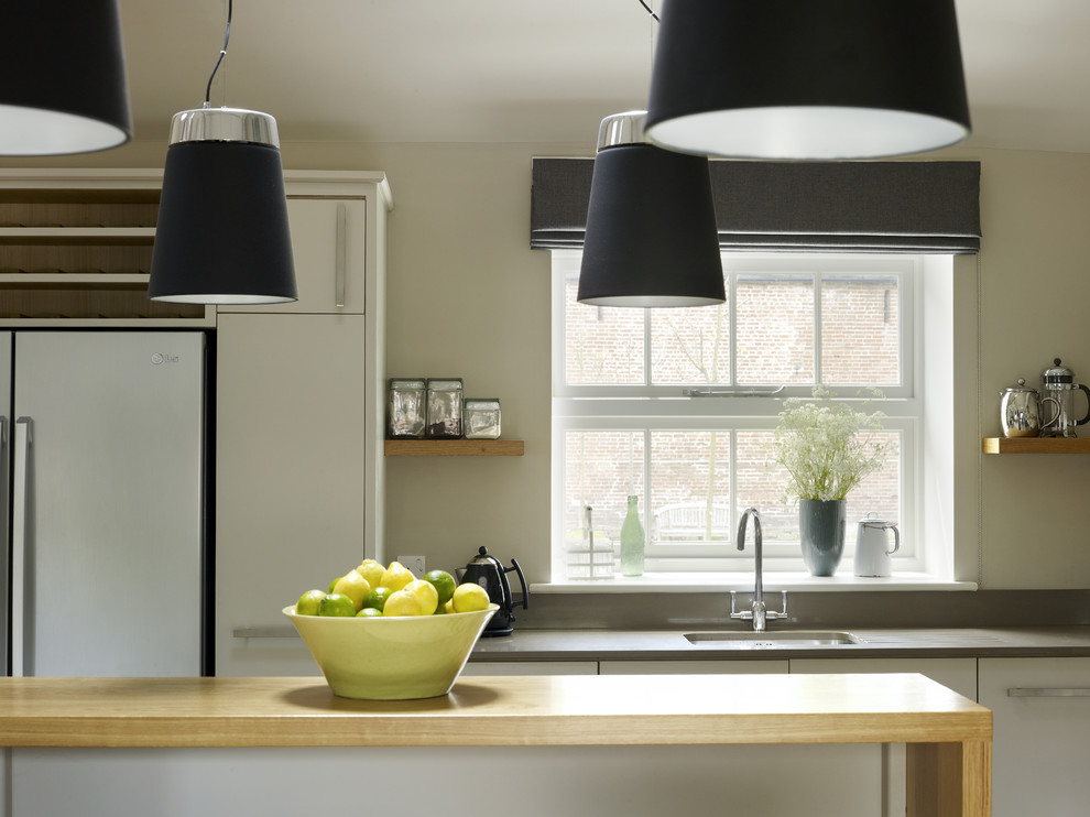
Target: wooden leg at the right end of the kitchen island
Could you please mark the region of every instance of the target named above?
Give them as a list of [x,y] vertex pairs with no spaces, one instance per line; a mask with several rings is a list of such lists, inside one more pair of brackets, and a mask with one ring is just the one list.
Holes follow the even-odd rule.
[[909,743],[908,817],[991,817],[992,744]]

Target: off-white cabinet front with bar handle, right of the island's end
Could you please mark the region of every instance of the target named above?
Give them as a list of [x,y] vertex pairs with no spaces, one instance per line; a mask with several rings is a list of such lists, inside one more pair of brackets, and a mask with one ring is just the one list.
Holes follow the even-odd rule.
[[981,658],[979,685],[992,710],[992,814],[1087,814],[1090,658]]

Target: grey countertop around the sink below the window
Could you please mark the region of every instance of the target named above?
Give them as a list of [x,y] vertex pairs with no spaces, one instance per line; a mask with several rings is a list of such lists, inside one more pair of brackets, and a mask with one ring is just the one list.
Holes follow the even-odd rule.
[[[782,633],[770,625],[769,631]],[[1090,656],[1090,627],[981,629],[846,628],[824,632],[851,633],[852,644],[704,641],[686,639],[707,630],[519,630],[482,638],[470,661],[648,661],[771,657],[1069,657]],[[744,632],[730,628],[719,632]],[[807,632],[813,632],[808,630]],[[770,640],[771,641],[771,640]]]

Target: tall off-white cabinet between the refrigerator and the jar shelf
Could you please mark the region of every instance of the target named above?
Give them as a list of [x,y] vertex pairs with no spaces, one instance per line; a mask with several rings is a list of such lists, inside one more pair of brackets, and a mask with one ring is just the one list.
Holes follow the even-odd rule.
[[381,557],[384,177],[287,188],[298,304],[218,314],[217,675],[317,674],[281,610]]

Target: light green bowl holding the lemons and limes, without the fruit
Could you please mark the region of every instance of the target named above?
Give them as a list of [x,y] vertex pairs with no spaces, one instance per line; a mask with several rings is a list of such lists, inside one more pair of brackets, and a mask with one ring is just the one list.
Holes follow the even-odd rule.
[[440,616],[337,618],[284,608],[334,695],[406,700],[450,691],[488,620],[500,608]]

